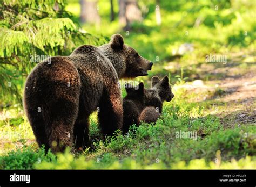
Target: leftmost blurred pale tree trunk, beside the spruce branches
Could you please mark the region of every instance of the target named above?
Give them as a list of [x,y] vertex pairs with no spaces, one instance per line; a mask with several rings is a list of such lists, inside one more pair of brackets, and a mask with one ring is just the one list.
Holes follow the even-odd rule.
[[80,0],[82,23],[93,23],[99,25],[100,17],[97,7],[97,0]]

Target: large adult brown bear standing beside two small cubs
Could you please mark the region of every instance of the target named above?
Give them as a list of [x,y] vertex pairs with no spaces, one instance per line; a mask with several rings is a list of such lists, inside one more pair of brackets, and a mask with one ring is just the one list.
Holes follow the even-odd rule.
[[104,136],[122,128],[118,80],[145,76],[152,64],[119,34],[109,44],[80,46],[37,64],[26,80],[23,106],[38,145],[59,152],[75,141],[77,149],[85,148],[96,109]]

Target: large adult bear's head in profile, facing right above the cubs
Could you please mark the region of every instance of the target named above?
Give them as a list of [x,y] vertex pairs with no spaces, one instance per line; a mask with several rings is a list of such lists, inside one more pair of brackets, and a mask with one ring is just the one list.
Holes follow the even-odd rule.
[[113,64],[119,78],[146,76],[153,66],[153,62],[144,59],[135,49],[125,45],[120,34],[112,35],[109,44],[100,48]]

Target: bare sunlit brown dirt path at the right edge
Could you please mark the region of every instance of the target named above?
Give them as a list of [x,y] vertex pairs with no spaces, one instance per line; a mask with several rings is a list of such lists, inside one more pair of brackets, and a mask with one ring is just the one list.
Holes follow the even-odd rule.
[[256,74],[252,71],[237,78],[225,78],[219,85],[224,94],[216,100],[227,104],[218,113],[224,126],[256,124]]

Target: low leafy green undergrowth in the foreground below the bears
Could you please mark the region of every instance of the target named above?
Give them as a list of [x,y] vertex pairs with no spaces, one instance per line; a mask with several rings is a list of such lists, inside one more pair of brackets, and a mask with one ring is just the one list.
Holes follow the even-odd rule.
[[[95,149],[79,155],[73,155],[67,149],[56,157],[50,152],[44,154],[43,149],[35,146],[25,146],[22,150],[3,154],[1,169],[181,169],[181,166],[234,169],[232,166],[238,164],[234,160],[242,157],[246,157],[247,162],[238,161],[238,168],[255,169],[255,128],[237,127],[223,131],[218,130],[220,124],[215,117],[193,119],[172,111],[174,113],[166,118],[167,112],[164,111],[163,119],[156,125],[133,127],[126,136],[117,132],[105,142],[95,139]],[[95,125],[91,128],[96,128]],[[197,140],[176,138],[175,133],[180,130],[196,131]],[[205,132],[203,136],[201,132]],[[95,131],[92,135],[97,136],[93,133]],[[197,160],[201,158],[203,160]],[[221,158],[220,166],[213,164],[216,158]],[[194,162],[200,162],[200,165],[194,166]]]

